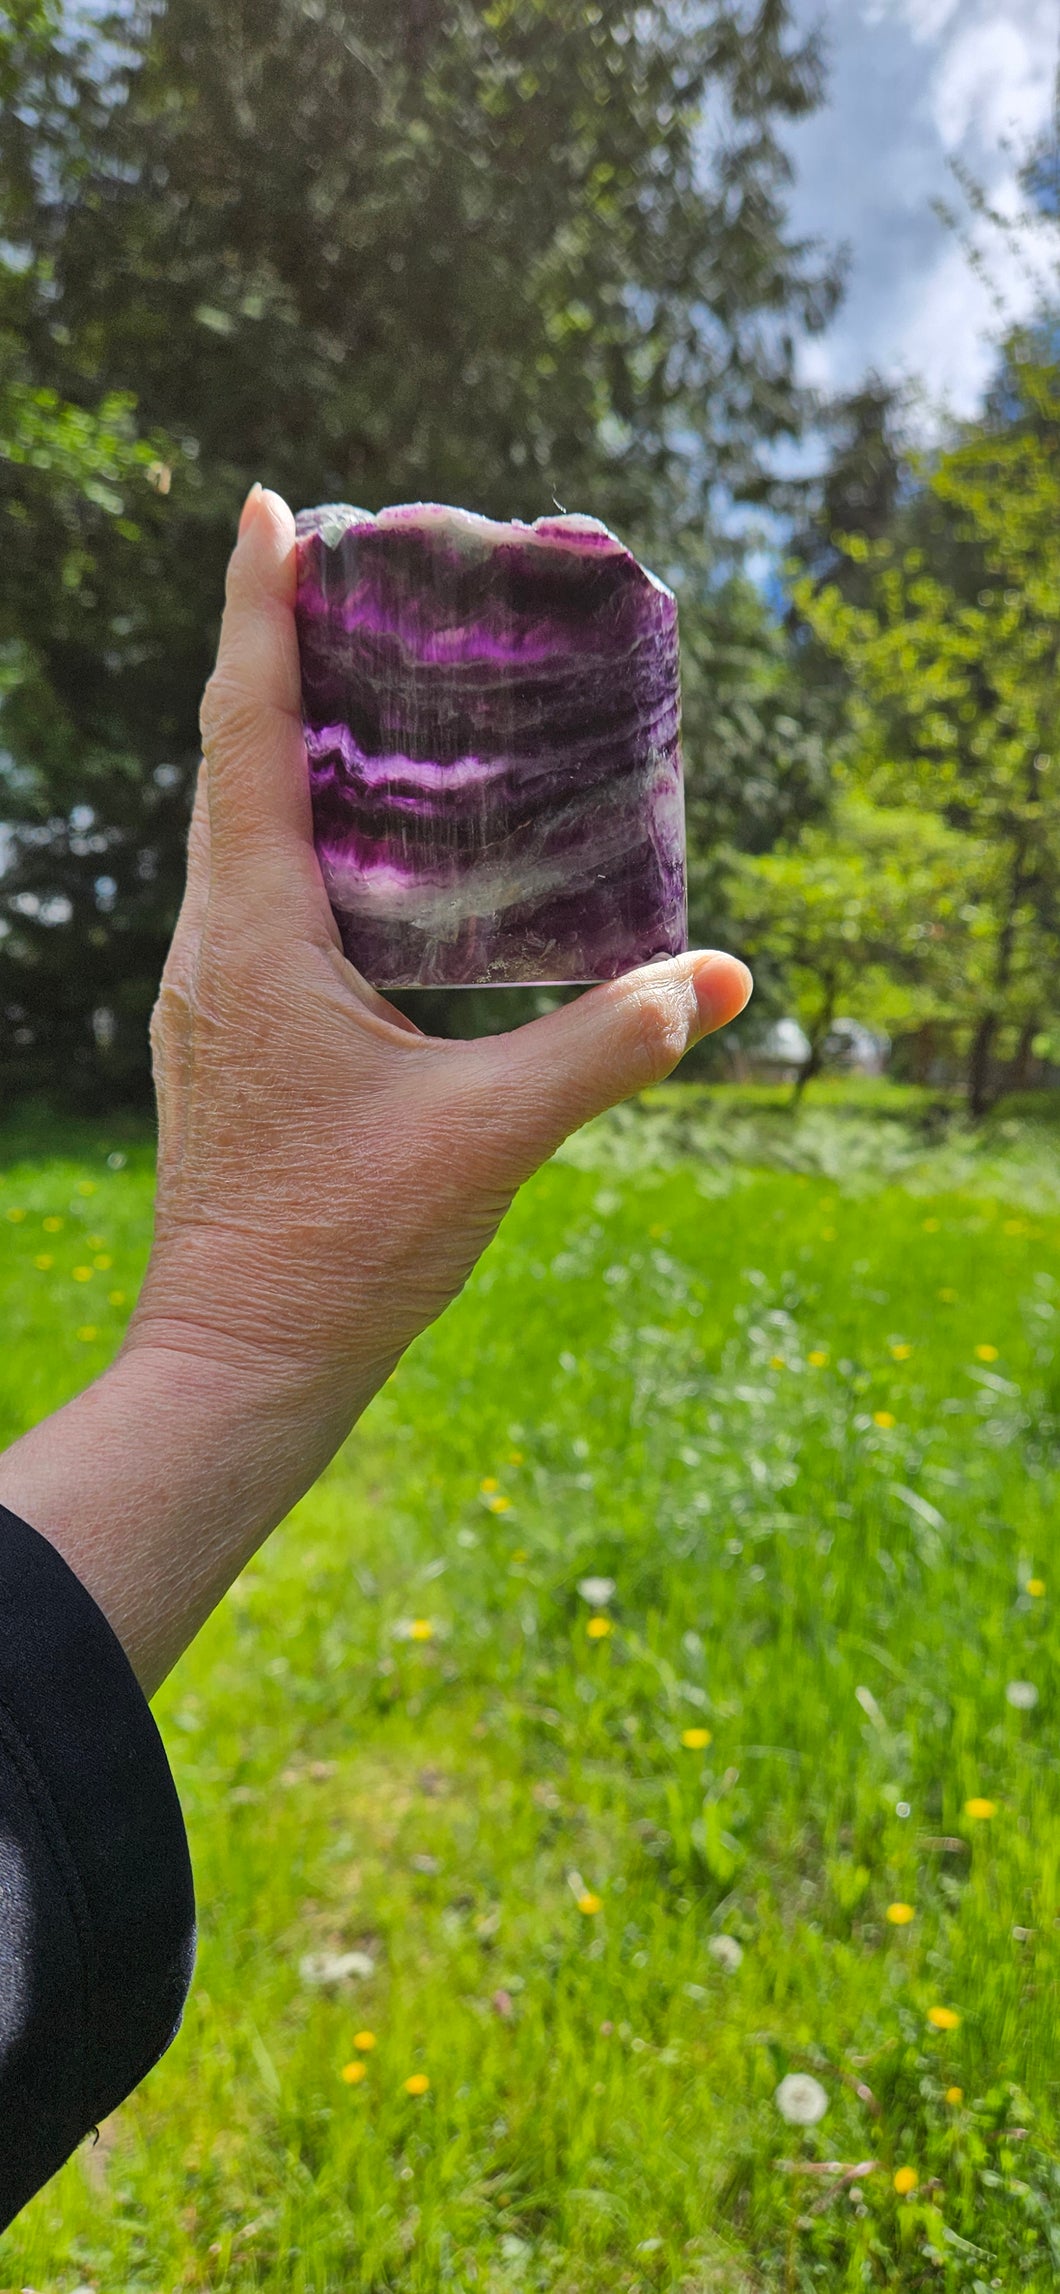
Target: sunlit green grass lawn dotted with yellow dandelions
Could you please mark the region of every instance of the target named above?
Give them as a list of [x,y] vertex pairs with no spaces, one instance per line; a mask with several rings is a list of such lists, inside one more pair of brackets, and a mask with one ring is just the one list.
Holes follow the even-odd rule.
[[[195,1991],[2,2287],[1055,2289],[1055,1131],[649,1099],[161,1693]],[[5,1441],[149,1195],[0,1140]]]

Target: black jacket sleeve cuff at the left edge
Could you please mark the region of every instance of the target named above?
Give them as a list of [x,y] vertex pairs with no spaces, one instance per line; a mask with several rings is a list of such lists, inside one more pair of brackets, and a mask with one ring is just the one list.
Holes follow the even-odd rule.
[[165,2053],[193,1959],[147,1698],[80,1578],[0,1505],[0,2230]]

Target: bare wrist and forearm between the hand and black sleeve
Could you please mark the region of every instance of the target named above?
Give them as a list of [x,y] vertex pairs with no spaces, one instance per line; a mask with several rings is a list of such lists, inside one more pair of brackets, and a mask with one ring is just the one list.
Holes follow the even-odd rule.
[[154,1695],[374,1383],[133,1344],[0,1457],[0,1505],[57,1546]]

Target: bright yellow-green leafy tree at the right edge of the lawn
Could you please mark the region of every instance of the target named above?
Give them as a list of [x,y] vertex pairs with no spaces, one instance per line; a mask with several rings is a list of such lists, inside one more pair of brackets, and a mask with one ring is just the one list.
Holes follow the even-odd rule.
[[[984,1113],[998,1039],[1058,1009],[1060,927],[1060,367],[1010,344],[1010,399],[925,475],[961,560],[847,537],[870,603],[794,587],[851,688],[851,773],[966,840],[977,961],[964,991],[968,1106]],[[968,594],[968,569],[980,587]]]

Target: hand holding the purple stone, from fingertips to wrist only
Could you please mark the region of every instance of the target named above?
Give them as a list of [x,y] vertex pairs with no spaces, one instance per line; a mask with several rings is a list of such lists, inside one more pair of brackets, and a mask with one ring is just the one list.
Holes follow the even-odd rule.
[[202,704],[188,892],[154,1016],[156,1248],[133,1342],[273,1358],[356,1413],[519,1184],[748,1000],[652,963],[509,1035],[424,1037],[346,963],[312,846],[294,518],[250,496]]

